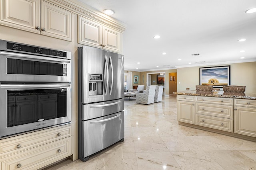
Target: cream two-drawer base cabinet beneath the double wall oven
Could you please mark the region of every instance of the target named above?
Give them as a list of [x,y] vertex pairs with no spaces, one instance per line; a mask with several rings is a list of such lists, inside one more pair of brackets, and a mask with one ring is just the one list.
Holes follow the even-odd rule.
[[0,140],[0,170],[38,169],[70,155],[70,125]]

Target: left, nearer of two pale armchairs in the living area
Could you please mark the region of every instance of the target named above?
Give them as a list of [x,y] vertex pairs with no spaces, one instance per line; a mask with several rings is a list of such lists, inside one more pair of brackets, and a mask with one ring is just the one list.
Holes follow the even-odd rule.
[[154,103],[155,91],[156,91],[155,86],[147,86],[144,93],[136,94],[136,103],[137,104],[152,104],[152,103]]

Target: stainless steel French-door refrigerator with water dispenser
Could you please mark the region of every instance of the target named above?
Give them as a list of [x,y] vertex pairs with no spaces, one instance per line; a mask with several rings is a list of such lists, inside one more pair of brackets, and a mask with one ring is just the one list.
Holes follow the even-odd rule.
[[124,141],[124,56],[78,48],[78,157]]

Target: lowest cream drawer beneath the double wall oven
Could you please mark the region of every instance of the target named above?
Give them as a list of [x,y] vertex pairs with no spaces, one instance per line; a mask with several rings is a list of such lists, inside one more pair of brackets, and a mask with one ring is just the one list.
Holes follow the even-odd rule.
[[[72,137],[67,137],[0,158],[2,170],[38,169],[72,154]],[[19,167],[19,168],[18,168]]]

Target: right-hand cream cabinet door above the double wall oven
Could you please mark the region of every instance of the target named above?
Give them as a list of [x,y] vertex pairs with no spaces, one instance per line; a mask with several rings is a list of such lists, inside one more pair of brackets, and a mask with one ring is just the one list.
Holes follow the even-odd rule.
[[63,8],[42,1],[41,34],[71,41],[71,15]]

